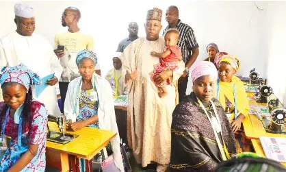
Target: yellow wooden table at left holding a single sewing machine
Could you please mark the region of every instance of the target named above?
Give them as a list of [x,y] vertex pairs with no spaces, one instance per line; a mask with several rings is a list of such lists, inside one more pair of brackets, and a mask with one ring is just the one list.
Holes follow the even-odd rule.
[[[57,124],[53,122],[49,122],[49,128],[59,131]],[[68,156],[91,160],[109,143],[109,140],[116,136],[114,132],[92,127],[84,127],[77,132],[66,133],[79,136],[66,145],[47,141],[46,152],[47,165],[64,172],[70,170]]]

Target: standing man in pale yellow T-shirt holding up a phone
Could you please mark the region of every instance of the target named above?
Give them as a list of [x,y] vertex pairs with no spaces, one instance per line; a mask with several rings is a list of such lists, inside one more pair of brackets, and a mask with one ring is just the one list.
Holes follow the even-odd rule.
[[[68,84],[79,77],[79,69],[75,63],[77,53],[83,49],[93,51],[94,41],[92,36],[81,33],[78,23],[81,19],[81,12],[75,7],[68,7],[62,13],[62,26],[68,27],[68,32],[55,34],[54,50],[57,58],[60,59],[60,64],[64,69],[60,78],[60,96],[62,99],[62,109],[64,109],[64,101],[66,99],[66,91]],[[101,75],[99,63],[95,66],[95,72]]]

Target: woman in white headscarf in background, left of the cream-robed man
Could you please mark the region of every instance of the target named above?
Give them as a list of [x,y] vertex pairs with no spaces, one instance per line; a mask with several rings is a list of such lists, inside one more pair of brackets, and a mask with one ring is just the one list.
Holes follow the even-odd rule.
[[125,85],[125,72],[122,71],[121,53],[116,52],[112,58],[114,69],[110,69],[105,79],[112,86],[114,98],[120,95],[127,95],[127,85]]

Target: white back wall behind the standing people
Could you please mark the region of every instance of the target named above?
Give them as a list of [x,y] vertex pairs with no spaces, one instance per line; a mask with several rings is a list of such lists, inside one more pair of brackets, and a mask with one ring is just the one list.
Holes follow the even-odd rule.
[[[0,23],[4,25],[0,27],[0,36],[15,29],[13,21],[15,2],[18,1],[0,2]],[[35,9],[36,32],[46,36],[51,44],[55,32],[67,29],[61,25],[64,8],[68,6],[79,8],[82,13],[79,25],[83,31],[94,37],[95,51],[99,55],[103,75],[112,68],[112,54],[116,51],[118,42],[127,37],[129,22],[138,22],[139,36],[145,36],[143,26],[146,11],[153,7],[164,10],[165,17],[166,8],[169,5],[177,5],[180,19],[192,26],[196,34],[200,46],[198,60],[207,58],[207,44],[216,42],[220,51],[239,57],[242,63],[239,75],[248,76],[250,69],[255,66],[262,77],[270,76],[267,70],[268,66],[271,69],[271,65],[268,65],[268,56],[278,58],[276,50],[283,49],[278,48],[282,41],[280,34],[283,34],[283,29],[278,27],[285,21],[283,8],[280,6],[285,5],[285,2],[258,1],[257,5],[263,10],[258,10],[254,1],[105,0],[25,1],[25,3]],[[276,8],[279,11],[276,11]],[[162,24],[164,27],[167,25],[164,19]],[[283,54],[280,57],[283,57]],[[272,69],[275,69],[273,65]],[[187,89],[187,93],[190,93],[190,88]]]

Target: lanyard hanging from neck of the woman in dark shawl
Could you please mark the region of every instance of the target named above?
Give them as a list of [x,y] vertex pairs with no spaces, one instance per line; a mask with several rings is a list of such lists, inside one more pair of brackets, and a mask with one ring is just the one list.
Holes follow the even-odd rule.
[[[198,99],[198,97],[196,98]],[[222,136],[222,125],[220,124],[220,118],[218,117],[218,112],[216,111],[216,106],[214,106],[213,101],[211,101],[211,106],[213,107],[213,111],[216,114],[216,118],[215,117],[211,117],[212,119],[216,119],[216,125],[214,126],[213,121],[211,120],[211,118],[209,117],[209,115],[207,114],[207,110],[205,109],[205,106],[203,106],[203,103],[200,101],[200,99],[198,99],[198,103],[200,103],[200,107],[203,108],[203,110],[205,111],[205,114],[207,115],[207,119],[209,119],[209,122],[211,123],[211,127],[213,128],[213,132],[215,134],[216,137],[216,142],[218,143],[218,149],[220,149],[220,154],[222,155],[222,160],[228,160],[231,158],[231,156],[229,156],[229,151],[226,149],[226,145],[224,143],[224,138],[222,137],[222,143],[220,142],[220,138],[218,138],[218,132],[220,132],[220,136]],[[218,129],[219,127],[219,129]]]

